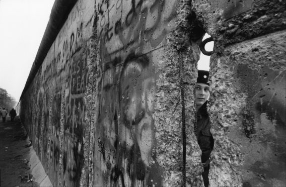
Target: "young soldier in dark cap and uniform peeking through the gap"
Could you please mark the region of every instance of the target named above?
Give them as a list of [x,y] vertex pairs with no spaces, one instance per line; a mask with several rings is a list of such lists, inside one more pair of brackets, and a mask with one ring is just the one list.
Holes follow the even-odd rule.
[[209,72],[198,70],[197,82],[195,84],[195,103],[197,123],[194,126],[198,145],[201,149],[201,162],[203,163],[202,178],[204,186],[208,186],[208,172],[210,153],[213,149],[214,140],[210,133],[210,121],[207,113],[207,101],[209,99]]

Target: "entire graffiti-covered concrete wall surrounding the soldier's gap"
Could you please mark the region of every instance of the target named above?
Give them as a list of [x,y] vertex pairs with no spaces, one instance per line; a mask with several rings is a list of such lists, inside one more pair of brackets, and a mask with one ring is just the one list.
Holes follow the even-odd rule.
[[187,185],[202,185],[193,86],[205,32],[210,184],[284,185],[284,6],[78,1],[19,105],[53,185],[179,186],[182,121]]

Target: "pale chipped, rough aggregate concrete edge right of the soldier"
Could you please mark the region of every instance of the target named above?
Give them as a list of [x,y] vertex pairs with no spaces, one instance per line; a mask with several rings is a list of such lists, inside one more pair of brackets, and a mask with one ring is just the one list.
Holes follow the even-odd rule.
[[236,87],[229,59],[217,59],[211,68],[212,76],[210,116],[211,132],[215,139],[215,147],[211,155],[210,185],[240,186],[241,171],[237,168],[243,162],[240,145],[233,142],[226,133],[230,126],[237,126],[237,114],[245,106],[246,95]]

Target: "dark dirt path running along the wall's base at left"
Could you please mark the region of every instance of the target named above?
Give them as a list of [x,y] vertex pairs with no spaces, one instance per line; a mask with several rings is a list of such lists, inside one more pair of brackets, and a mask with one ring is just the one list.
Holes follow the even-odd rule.
[[30,142],[19,119],[0,118],[0,186],[38,186],[28,166]]

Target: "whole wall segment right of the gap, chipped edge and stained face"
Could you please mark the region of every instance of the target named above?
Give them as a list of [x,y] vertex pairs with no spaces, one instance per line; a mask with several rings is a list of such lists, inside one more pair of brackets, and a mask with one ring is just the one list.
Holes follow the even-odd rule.
[[210,184],[284,186],[285,2],[192,5],[215,40]]

